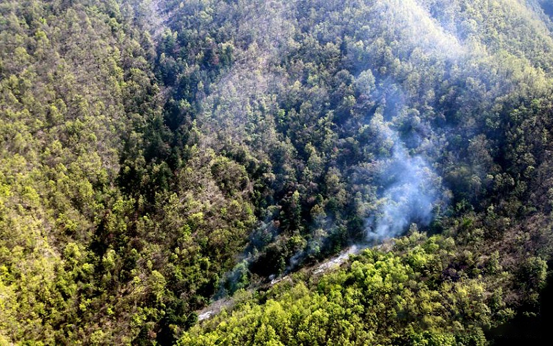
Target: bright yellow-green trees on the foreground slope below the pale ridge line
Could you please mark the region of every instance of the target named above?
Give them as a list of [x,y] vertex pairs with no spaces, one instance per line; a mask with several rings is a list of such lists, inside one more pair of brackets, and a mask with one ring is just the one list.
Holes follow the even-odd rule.
[[444,275],[459,250],[451,238],[413,233],[391,252],[363,251],[310,287],[279,284],[241,302],[179,345],[486,345],[482,329],[512,310],[471,268]]

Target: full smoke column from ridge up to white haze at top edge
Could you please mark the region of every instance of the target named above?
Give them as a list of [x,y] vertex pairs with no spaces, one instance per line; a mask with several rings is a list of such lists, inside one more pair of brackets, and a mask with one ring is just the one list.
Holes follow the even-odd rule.
[[[433,18],[421,1],[380,1],[375,3],[373,14],[386,18],[382,22],[382,30],[384,33],[395,33],[397,40],[402,42],[402,46],[398,48],[401,51],[398,56],[402,56],[402,59],[408,60],[413,66],[425,64],[424,61],[418,61],[417,54],[413,54],[415,51],[422,52],[422,56],[442,60],[444,66],[457,64],[467,55],[455,28],[445,26]],[[370,42],[371,38],[367,39],[366,45]],[[379,71],[381,66],[368,67]],[[369,115],[369,126],[377,134],[373,140],[381,143],[381,147],[385,149],[384,154],[375,153],[374,165],[377,169],[371,173],[378,189],[377,200],[372,201],[375,207],[371,215],[366,217],[368,243],[397,237],[411,224],[429,226],[436,211],[447,206],[451,195],[443,187],[441,177],[433,170],[427,158],[435,150],[435,143],[431,140],[431,127],[428,124],[420,125],[425,127],[421,131],[422,135],[415,132],[400,135],[398,129],[401,118],[406,118],[402,117],[402,113],[411,107],[417,108],[410,100],[420,100],[416,94],[419,92],[417,89],[407,85],[403,87],[402,78],[396,78],[397,75],[394,77],[393,73],[378,75],[374,89],[366,93],[374,100],[375,107],[380,109]],[[429,154],[424,155],[427,151]]]

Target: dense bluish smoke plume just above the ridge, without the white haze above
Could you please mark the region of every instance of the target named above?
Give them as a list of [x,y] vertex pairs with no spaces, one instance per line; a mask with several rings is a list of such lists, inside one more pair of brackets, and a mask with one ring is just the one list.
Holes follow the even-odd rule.
[[[424,155],[430,156],[435,147],[431,127],[418,111],[406,107],[401,86],[386,78],[373,87],[371,98],[377,100],[368,124],[375,160],[366,174],[377,185],[377,197],[366,217],[366,241],[374,244],[401,235],[411,224],[429,226],[451,192]],[[411,127],[400,134],[398,128],[406,121]]]

